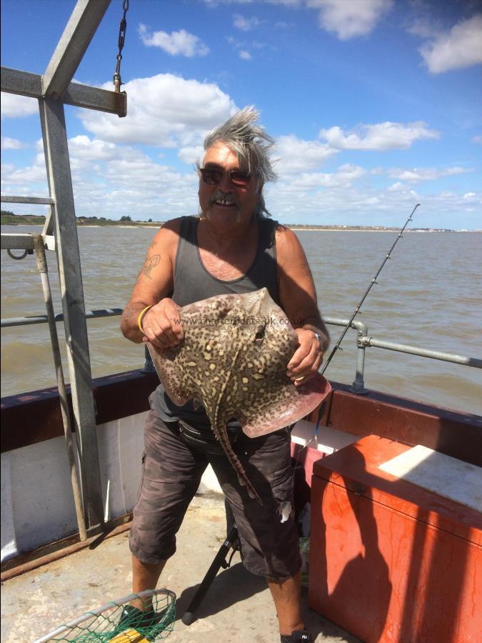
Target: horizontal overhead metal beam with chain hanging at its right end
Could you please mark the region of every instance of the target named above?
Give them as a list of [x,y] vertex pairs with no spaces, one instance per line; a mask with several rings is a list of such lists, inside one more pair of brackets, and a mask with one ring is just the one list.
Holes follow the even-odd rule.
[[[19,69],[1,68],[1,91],[20,94],[30,98],[43,98],[42,76]],[[74,107],[85,107],[109,114],[126,116],[127,96],[124,91],[109,91],[80,83],[70,83],[63,96],[63,102]]]

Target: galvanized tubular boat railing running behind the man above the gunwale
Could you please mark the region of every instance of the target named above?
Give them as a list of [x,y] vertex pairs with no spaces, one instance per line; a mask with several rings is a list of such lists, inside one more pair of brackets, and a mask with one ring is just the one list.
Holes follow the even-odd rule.
[[[2,235],[3,236],[3,235]],[[16,246],[19,247],[19,246]],[[86,319],[99,319],[101,317],[114,317],[122,314],[121,308],[102,308],[96,310],[86,310]],[[64,314],[59,313],[54,316],[55,321],[63,321]],[[340,317],[324,317],[325,323],[328,326],[341,326],[346,327],[348,319]],[[24,317],[9,317],[1,320],[1,328],[11,328],[16,326],[29,326],[31,324],[46,324],[49,319],[47,315],[32,315]],[[405,353],[408,355],[416,355],[417,357],[427,357],[429,359],[438,359],[441,362],[450,362],[451,364],[460,364],[461,366],[473,367],[482,369],[482,359],[478,357],[465,357],[456,353],[448,353],[441,351],[434,351],[432,349],[424,349],[421,347],[412,346],[411,344],[399,344],[398,342],[386,342],[383,339],[376,339],[368,334],[368,326],[363,321],[352,321],[351,329],[356,331],[356,371],[355,379],[351,384],[351,391],[356,394],[363,395],[368,392],[365,388],[364,372],[365,372],[365,351],[367,348],[384,349],[398,353]],[[146,354],[147,356],[147,354]],[[144,363],[144,371],[154,371],[151,366],[149,357],[146,357]]]

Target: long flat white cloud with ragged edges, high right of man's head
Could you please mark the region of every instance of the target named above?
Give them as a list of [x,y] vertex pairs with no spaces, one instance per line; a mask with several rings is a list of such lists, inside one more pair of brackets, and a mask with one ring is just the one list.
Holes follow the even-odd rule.
[[356,131],[344,132],[340,127],[321,129],[320,138],[333,149],[408,149],[420,139],[438,139],[440,134],[428,129],[423,121],[415,123],[362,124]]

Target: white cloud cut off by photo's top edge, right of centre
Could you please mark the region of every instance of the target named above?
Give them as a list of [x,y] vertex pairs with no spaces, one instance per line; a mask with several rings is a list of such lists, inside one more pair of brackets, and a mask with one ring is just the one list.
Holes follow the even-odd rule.
[[334,31],[340,40],[366,36],[383,14],[393,6],[393,0],[306,0],[311,9],[319,9],[322,29]]

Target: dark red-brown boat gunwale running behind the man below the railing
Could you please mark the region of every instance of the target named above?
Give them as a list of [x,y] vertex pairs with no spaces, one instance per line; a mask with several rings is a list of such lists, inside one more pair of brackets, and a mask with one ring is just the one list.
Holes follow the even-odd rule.
[[[105,424],[149,409],[149,394],[159,384],[155,373],[139,370],[94,379],[96,422]],[[370,391],[354,394],[347,384],[333,391],[321,423],[359,436],[376,434],[424,447],[482,466],[482,417],[433,407],[411,399]],[[70,402],[70,389],[69,402]],[[33,421],[34,419],[34,421]],[[316,422],[316,412],[310,419]],[[64,434],[56,387],[1,399],[1,452]]]

